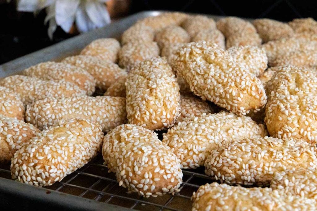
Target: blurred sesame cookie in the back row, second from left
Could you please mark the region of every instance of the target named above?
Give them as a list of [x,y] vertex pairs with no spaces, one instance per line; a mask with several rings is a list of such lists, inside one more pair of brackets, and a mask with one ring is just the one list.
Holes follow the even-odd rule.
[[208,18],[207,16],[189,16],[182,23],[182,27],[193,38],[201,30],[216,29],[216,22],[214,19]]

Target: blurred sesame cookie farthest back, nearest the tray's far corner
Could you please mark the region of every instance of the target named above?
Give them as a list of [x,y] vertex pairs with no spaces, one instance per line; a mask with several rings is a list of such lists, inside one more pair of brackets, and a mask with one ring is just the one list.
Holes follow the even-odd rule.
[[181,12],[164,12],[159,16],[146,17],[136,24],[144,24],[157,32],[170,25],[180,25],[187,17],[187,14]]

